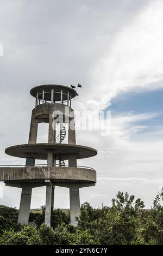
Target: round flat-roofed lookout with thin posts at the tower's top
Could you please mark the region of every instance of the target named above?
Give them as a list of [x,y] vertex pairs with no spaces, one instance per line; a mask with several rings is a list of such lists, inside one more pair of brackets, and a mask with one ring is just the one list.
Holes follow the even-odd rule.
[[71,99],[78,96],[76,90],[65,85],[39,85],[30,90],[36,98],[36,105],[42,103],[66,103],[71,106]]

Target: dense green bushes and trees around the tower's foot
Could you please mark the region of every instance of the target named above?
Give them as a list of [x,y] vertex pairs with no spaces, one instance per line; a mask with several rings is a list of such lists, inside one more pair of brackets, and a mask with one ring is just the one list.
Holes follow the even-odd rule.
[[78,227],[60,209],[52,212],[52,228],[43,224],[41,213],[30,213],[30,225],[17,225],[18,210],[0,207],[0,245],[163,245],[163,207],[161,194],[151,210],[134,195],[118,192],[112,206],[81,207]]

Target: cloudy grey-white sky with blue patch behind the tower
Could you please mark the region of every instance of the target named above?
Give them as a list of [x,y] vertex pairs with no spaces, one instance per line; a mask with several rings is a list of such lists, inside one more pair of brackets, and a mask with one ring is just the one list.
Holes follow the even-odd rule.
[[[77,144],[98,150],[78,164],[97,170],[80,201],[110,205],[118,190],[151,207],[163,184],[163,1],[0,0],[0,164],[24,164],[6,147],[28,142],[40,84],[82,84],[75,110],[111,111],[111,132],[78,130]],[[47,126],[39,127],[40,142]],[[0,204],[19,206],[21,189],[1,182]],[[34,188],[32,208],[45,205]],[[56,187],[54,207],[69,207]]]

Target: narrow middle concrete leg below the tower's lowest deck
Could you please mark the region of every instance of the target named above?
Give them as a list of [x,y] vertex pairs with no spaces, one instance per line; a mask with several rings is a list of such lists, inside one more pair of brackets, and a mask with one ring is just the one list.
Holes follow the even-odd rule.
[[45,209],[45,224],[51,227],[51,210],[52,210],[52,183],[50,180],[45,180],[46,183],[46,209]]

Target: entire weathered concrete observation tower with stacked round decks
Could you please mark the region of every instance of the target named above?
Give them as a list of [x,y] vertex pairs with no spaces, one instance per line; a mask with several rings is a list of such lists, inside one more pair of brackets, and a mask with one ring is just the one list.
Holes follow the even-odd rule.
[[[32,88],[35,97],[32,110],[28,144],[6,148],[10,156],[26,158],[25,165],[1,165],[0,181],[6,186],[22,188],[18,223],[28,224],[32,188],[46,186],[45,223],[51,226],[51,210],[54,206],[55,186],[70,190],[70,219],[76,226],[80,215],[79,188],[96,183],[93,168],[77,165],[77,159],[93,157],[94,148],[76,144],[72,99],[77,92],[63,85],[40,85]],[[49,123],[47,143],[37,143],[39,123]],[[58,134],[57,134],[58,133]],[[35,164],[35,160],[47,160],[47,164]]]

